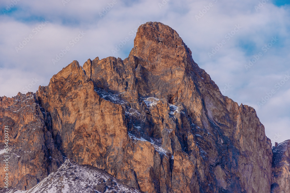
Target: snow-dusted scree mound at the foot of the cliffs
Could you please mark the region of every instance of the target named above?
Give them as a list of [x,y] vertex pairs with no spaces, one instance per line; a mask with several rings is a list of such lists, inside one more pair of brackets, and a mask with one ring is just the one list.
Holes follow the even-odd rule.
[[79,165],[70,159],[48,177],[27,191],[0,190],[1,193],[138,193],[102,169]]

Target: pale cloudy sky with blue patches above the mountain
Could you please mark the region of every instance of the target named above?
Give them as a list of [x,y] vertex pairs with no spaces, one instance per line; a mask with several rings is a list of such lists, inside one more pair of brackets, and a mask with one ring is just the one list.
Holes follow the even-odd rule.
[[[0,96],[36,92],[73,60],[128,57],[139,25],[169,25],[223,95],[290,139],[290,1],[1,0]],[[120,45],[121,44],[121,45]]]

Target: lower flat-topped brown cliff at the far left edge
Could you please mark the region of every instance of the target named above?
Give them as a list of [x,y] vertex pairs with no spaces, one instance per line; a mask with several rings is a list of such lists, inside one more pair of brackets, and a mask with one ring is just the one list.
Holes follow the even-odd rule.
[[[64,159],[52,138],[50,116],[39,105],[35,93],[18,93],[12,98],[0,98],[0,136],[4,141],[4,126],[8,126],[8,153],[0,149],[0,178],[9,173],[9,186],[28,190],[59,168]],[[4,171],[5,159],[9,170]],[[3,187],[4,184],[1,183]]]

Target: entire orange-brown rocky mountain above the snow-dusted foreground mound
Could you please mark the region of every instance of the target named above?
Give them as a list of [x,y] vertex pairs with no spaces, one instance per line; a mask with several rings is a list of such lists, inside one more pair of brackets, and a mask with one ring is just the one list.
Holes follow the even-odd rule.
[[97,57],[83,67],[73,61],[37,93],[2,97],[0,108],[1,123],[11,128],[10,186],[19,190],[55,172],[64,157],[140,192],[289,185],[275,178],[282,170],[275,151],[272,179],[271,141],[255,110],[223,96],[162,23],[139,27],[128,58]]

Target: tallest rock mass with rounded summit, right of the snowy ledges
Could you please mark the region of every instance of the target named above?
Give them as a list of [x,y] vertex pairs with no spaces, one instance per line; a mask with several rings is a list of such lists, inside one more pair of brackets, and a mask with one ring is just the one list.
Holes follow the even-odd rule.
[[[170,27],[141,25],[128,58],[96,58],[87,65],[95,87],[119,94],[141,114],[145,109],[143,122],[130,118],[140,129],[129,125],[129,132],[162,139],[162,148],[177,156],[173,192],[270,191],[271,142],[255,110],[222,96]],[[148,97],[160,101],[146,109],[142,101]],[[187,166],[176,168],[179,160]]]

